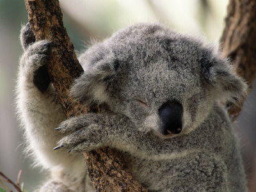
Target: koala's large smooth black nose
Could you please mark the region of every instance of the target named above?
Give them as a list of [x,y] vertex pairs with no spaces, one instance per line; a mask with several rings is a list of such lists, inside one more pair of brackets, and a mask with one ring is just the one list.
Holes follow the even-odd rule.
[[161,134],[179,134],[182,131],[183,108],[179,102],[166,102],[159,108]]

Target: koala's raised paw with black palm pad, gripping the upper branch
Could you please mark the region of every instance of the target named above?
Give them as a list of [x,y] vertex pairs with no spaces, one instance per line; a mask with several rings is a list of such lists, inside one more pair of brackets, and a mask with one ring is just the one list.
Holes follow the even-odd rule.
[[40,92],[45,92],[51,82],[45,65],[50,59],[53,45],[46,40],[31,44],[20,60],[21,70],[26,79],[32,81]]

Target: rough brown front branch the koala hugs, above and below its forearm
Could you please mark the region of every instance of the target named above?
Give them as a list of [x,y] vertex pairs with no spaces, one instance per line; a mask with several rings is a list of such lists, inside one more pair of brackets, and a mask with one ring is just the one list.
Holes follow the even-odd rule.
[[[36,40],[54,42],[52,60],[47,65],[51,81],[58,93],[63,110],[68,117],[81,115],[99,108],[84,108],[74,102],[68,89],[72,81],[83,72],[74,47],[63,26],[62,13],[58,0],[25,0],[28,19]],[[90,179],[97,191],[147,191],[125,168],[118,155],[110,148],[84,153]]]

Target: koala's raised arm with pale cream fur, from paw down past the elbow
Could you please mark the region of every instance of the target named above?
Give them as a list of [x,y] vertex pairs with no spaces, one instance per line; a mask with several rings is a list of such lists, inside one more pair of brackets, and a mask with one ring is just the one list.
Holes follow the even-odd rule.
[[22,28],[21,32],[24,54],[20,58],[17,108],[28,141],[28,150],[35,157],[35,164],[54,174],[52,184],[61,180],[68,187],[76,186],[74,188],[77,189],[84,186],[86,168],[83,157],[80,154],[52,150],[61,138],[54,128],[65,120],[66,116],[56,101],[56,92],[45,68],[51,43],[34,43],[35,38],[28,25]]

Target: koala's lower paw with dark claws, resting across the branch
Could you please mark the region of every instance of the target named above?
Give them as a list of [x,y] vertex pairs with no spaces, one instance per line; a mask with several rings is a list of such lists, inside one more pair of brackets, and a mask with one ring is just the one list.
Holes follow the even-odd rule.
[[69,118],[60,124],[56,131],[66,133],[74,131],[58,142],[58,148],[66,148],[68,152],[83,152],[103,147],[108,140],[108,124],[96,113]]

